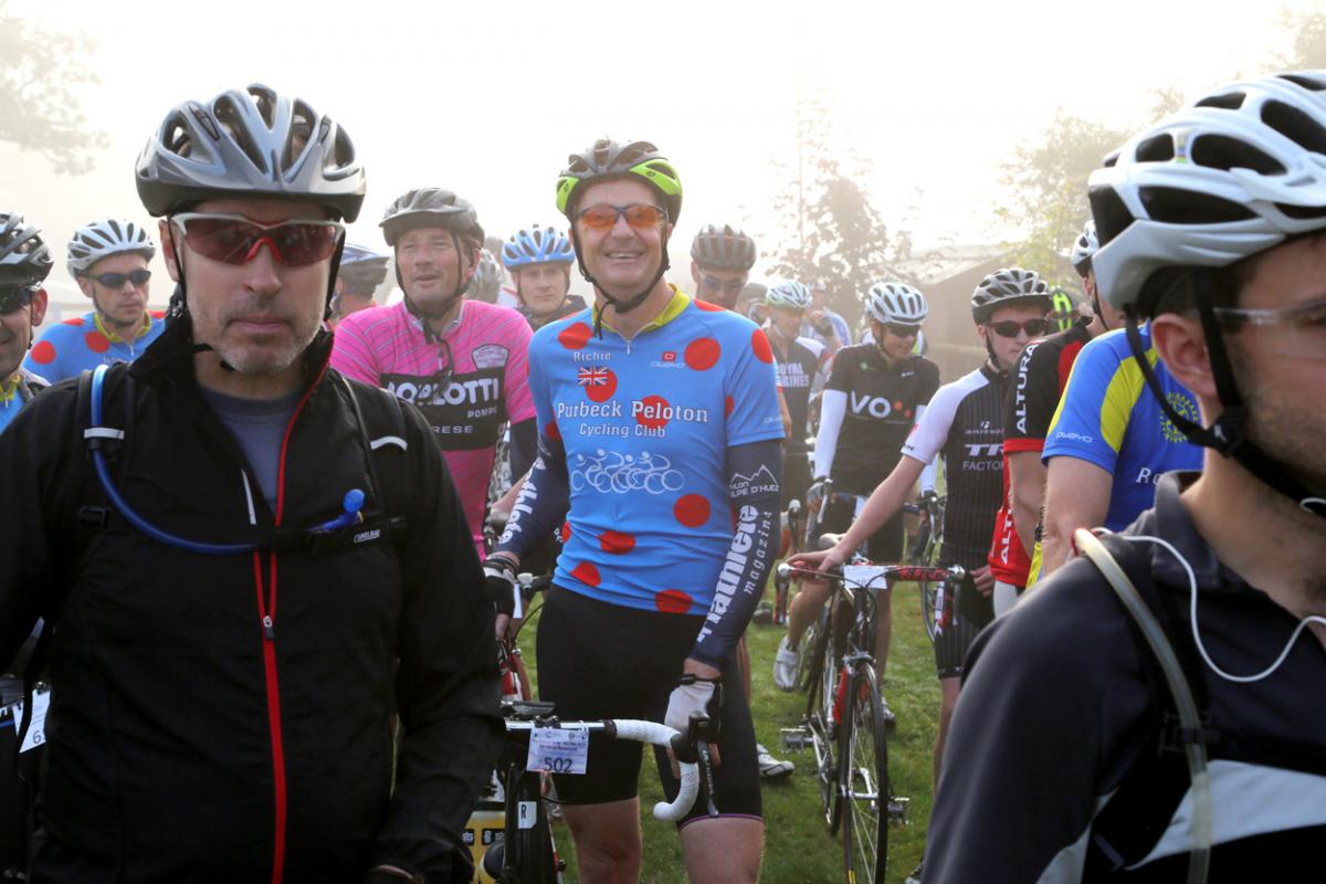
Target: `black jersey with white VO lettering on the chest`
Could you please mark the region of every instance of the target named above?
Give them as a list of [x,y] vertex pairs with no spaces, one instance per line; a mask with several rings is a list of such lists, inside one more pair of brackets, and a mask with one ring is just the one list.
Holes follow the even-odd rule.
[[924,357],[890,367],[873,343],[839,350],[825,387],[815,472],[827,473],[838,490],[873,492],[898,465],[907,433],[937,388],[939,366]]

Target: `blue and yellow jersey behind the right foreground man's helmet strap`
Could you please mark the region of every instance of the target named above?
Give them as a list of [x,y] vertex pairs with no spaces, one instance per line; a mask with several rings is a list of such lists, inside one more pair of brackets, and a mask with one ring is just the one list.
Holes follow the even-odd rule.
[[[1156,358],[1150,329],[1142,326],[1140,334],[1170,404],[1200,421],[1196,399]],[[1041,453],[1046,463],[1052,457],[1077,457],[1114,476],[1105,518],[1111,531],[1123,530],[1151,506],[1162,473],[1201,469],[1201,448],[1164,416],[1122,329],[1087,343],[1073,363]]]

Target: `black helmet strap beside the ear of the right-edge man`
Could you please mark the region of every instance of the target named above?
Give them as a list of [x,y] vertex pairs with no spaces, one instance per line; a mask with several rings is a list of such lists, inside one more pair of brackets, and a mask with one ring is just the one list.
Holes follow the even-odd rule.
[[1201,427],[1180,415],[1170,404],[1164,390],[1160,388],[1160,380],[1156,378],[1151,362],[1146,358],[1146,351],[1142,346],[1142,333],[1138,329],[1136,309],[1134,305],[1128,305],[1124,319],[1128,347],[1132,350],[1132,357],[1142,370],[1142,376],[1146,379],[1151,395],[1156,398],[1166,417],[1183,431],[1189,441],[1204,448],[1211,448],[1223,457],[1232,457],[1250,476],[1260,478],[1274,490],[1293,500],[1298,504],[1299,509],[1326,518],[1326,494],[1314,493],[1305,488],[1290,476],[1290,470],[1284,463],[1264,452],[1248,437],[1248,407],[1238,392],[1238,383],[1235,379],[1233,367],[1229,364],[1229,351],[1225,347],[1220,321],[1216,318],[1215,307],[1211,306],[1211,298],[1204,297],[1207,293],[1200,290],[1212,285],[1212,282],[1208,276],[1193,273],[1192,285],[1195,289],[1199,289],[1197,314],[1201,318],[1201,330],[1207,337],[1207,354],[1211,359],[1212,378],[1216,382],[1216,396],[1220,399],[1223,411],[1211,427]]

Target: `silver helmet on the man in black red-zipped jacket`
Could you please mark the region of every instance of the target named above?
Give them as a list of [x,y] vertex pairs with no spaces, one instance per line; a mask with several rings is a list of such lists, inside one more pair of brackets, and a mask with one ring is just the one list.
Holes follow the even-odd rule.
[[176,106],[138,156],[138,196],[152,216],[224,196],[316,203],[353,221],[363,166],[349,134],[301,98],[263,85]]

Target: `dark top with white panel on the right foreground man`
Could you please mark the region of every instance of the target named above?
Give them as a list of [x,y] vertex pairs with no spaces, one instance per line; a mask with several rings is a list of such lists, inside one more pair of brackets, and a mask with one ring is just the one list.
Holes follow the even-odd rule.
[[[1193,478],[1163,476],[1155,509],[1124,534],[1163,538],[1183,554],[1207,653],[1227,672],[1260,672],[1285,648],[1296,618],[1216,559],[1179,498]],[[1299,635],[1270,676],[1228,681],[1197,655],[1193,590],[1180,562],[1150,542],[1115,555],[1143,598],[1159,600],[1152,612],[1168,623],[1203,714],[1209,880],[1321,880],[1311,871],[1326,835],[1321,644]],[[1134,558],[1142,567],[1128,567]],[[948,732],[927,880],[1184,880],[1191,777],[1152,660],[1105,578],[1082,559],[983,632]]]

